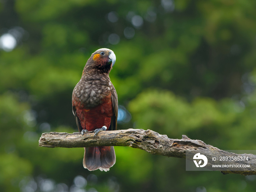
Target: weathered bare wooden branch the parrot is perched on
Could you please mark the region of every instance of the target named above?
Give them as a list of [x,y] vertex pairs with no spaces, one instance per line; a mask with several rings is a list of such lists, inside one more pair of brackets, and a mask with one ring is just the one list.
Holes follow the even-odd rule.
[[[248,157],[248,161],[238,161],[240,165],[250,165],[240,169],[225,169],[223,174],[234,173],[241,175],[256,175],[256,155],[253,154],[234,154],[220,150],[211,145],[207,145],[201,140],[189,139],[182,135],[182,139],[170,139],[167,135],[160,135],[150,129],[127,129],[117,131],[102,131],[97,136],[94,133],[85,133],[83,136],[80,132],[76,133],[43,133],[39,140],[40,147],[93,147],[93,146],[129,146],[139,148],[154,155],[163,155],[167,157],[186,158],[193,161],[196,153],[203,154],[207,157],[208,163],[205,168],[212,168],[213,164],[223,164],[223,161],[216,159],[214,162],[209,161],[212,157]],[[236,161],[237,162],[237,161]],[[234,161],[225,164],[232,165]],[[199,163],[200,164],[200,163]],[[218,169],[219,170],[219,169]]]

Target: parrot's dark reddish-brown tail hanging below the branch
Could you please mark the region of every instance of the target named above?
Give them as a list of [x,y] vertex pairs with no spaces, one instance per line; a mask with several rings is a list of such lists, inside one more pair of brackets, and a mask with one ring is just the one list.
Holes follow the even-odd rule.
[[113,146],[84,147],[83,167],[89,171],[109,171],[116,163],[116,154]]

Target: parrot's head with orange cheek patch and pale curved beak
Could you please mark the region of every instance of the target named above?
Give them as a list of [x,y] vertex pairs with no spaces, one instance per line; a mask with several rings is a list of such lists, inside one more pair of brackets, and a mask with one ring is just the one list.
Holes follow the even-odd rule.
[[91,54],[88,59],[84,70],[96,68],[103,72],[109,72],[116,62],[116,55],[110,49],[101,48]]

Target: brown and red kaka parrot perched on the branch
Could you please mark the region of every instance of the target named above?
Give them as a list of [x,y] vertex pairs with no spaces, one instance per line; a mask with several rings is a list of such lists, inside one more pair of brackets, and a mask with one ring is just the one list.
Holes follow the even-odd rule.
[[[94,131],[116,130],[118,101],[109,72],[116,61],[110,49],[102,48],[91,54],[83,74],[72,93],[72,108],[76,125],[82,135]],[[84,147],[83,167],[93,171],[108,171],[116,162],[113,146]]]

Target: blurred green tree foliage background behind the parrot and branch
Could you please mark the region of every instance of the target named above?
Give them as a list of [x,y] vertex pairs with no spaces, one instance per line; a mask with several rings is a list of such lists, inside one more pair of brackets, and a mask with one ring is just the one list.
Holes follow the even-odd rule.
[[83,148],[71,95],[91,53],[112,49],[118,129],[152,129],[223,150],[255,150],[255,0],[0,1],[0,191],[255,192],[256,176],[186,172],[185,159],[115,147],[109,172]]

